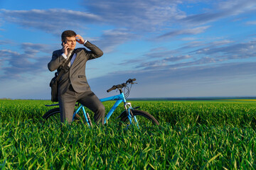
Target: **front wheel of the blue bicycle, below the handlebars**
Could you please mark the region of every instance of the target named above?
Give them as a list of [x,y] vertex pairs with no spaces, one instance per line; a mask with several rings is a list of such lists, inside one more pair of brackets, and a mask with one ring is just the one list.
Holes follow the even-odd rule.
[[[131,112],[132,112],[132,115],[136,117],[137,122],[139,123],[139,127],[159,125],[159,122],[156,120],[156,118],[154,118],[153,115],[150,115],[145,111],[131,110]],[[130,125],[128,115],[123,116],[121,118],[121,122],[122,122],[121,123],[122,125]],[[132,124],[136,125],[134,118],[132,118]]]

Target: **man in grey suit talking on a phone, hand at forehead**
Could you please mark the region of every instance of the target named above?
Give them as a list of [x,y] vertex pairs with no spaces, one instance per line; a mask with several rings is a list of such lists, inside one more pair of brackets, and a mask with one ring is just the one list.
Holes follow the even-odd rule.
[[[85,77],[85,64],[87,60],[101,57],[103,52],[96,45],[77,35],[73,30],[65,30],[61,35],[61,40],[63,48],[54,51],[52,60],[48,63],[48,69],[51,72],[55,69],[60,72],[60,69],[63,68],[73,50],[75,50],[75,53],[68,67],[64,68],[65,72],[58,81],[60,120],[62,123],[65,120],[68,120],[68,123],[72,122],[75,103],[78,101],[95,113],[95,123],[102,123],[103,125],[105,122],[105,107],[99,98],[90,90]],[[90,51],[84,47],[75,49],[76,42],[84,45]]]

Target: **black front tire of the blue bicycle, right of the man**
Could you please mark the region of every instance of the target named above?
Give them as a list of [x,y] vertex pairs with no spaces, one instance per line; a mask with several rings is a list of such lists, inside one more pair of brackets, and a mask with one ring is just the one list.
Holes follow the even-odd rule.
[[[159,125],[159,121],[157,121],[153,115],[150,115],[149,113],[147,113],[145,111],[131,110],[131,112],[133,115],[136,116],[137,121],[139,122],[139,126],[145,125],[145,124],[148,125],[149,122],[151,122],[153,125]],[[144,121],[142,121],[142,118],[144,119]],[[121,122],[124,124],[130,124],[128,115],[122,117]]]

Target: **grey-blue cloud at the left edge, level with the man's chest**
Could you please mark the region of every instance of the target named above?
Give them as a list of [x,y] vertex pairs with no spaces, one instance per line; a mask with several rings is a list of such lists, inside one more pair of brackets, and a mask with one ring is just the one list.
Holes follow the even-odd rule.
[[[48,45],[23,43],[23,52],[0,50],[0,79],[26,79],[24,74],[34,77],[47,70],[49,57],[38,56],[38,52],[46,52]],[[36,50],[35,50],[36,49]]]

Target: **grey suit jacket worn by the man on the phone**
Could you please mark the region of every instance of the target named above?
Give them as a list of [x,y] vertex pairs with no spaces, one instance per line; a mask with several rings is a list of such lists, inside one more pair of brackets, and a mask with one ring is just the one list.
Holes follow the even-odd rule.
[[[87,60],[92,60],[103,55],[102,50],[96,45],[93,45],[90,42],[85,43],[85,47],[89,48],[90,51],[87,51],[85,48],[78,48],[76,50],[75,61],[69,68],[65,68],[64,74],[60,77],[58,81],[58,94],[64,94],[68,90],[70,84],[72,84],[73,89],[77,93],[82,93],[90,90],[90,86],[87,83],[85,77],[85,64]],[[56,50],[53,52],[52,60],[48,63],[48,69],[53,72],[57,69],[57,72],[60,72],[60,69],[65,65],[65,58],[62,56],[62,50]]]

